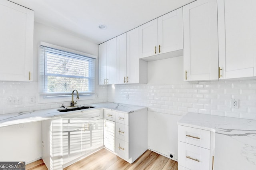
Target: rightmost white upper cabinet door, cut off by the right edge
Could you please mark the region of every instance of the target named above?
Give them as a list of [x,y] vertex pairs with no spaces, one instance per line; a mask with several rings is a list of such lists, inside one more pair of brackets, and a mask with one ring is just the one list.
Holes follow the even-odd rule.
[[220,79],[256,75],[256,1],[218,0]]

